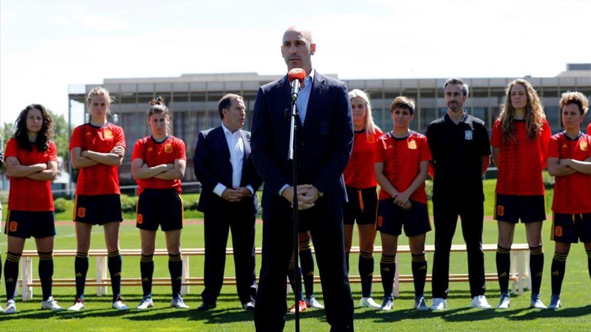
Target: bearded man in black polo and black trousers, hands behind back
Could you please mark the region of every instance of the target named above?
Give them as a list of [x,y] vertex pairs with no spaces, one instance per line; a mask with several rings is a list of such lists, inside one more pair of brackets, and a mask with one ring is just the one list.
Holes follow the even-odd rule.
[[457,217],[468,252],[472,307],[491,308],[486,301],[484,253],[482,251],[482,174],[489,165],[491,145],[485,123],[466,113],[468,86],[460,79],[444,85],[446,115],[431,122],[427,141],[433,155],[433,304],[431,310],[447,307],[449,253]]

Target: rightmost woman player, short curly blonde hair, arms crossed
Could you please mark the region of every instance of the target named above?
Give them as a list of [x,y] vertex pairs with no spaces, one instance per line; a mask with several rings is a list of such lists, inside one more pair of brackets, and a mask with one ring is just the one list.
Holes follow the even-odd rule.
[[550,235],[556,246],[550,268],[549,309],[561,306],[560,290],[571,243],[584,243],[591,276],[591,136],[580,131],[588,110],[589,100],[583,93],[563,93],[560,113],[566,129],[552,136],[548,144],[548,172],[556,177]]

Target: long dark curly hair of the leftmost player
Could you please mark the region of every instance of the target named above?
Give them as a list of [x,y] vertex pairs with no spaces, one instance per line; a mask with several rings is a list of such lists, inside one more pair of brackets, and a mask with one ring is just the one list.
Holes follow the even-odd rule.
[[[41,130],[37,133],[35,142],[29,142],[29,136],[27,131],[27,115],[31,109],[38,109],[41,111],[41,117],[43,118],[43,125]],[[37,147],[37,151],[46,151],[49,147],[49,143],[53,138],[53,119],[41,104],[31,104],[27,106],[18,115],[17,122],[14,124],[14,135],[12,138],[17,140],[18,147],[27,151],[33,151],[33,145]]]

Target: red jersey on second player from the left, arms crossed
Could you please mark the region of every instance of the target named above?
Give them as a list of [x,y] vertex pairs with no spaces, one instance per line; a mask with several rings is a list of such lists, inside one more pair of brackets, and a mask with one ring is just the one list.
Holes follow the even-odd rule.
[[[80,148],[100,153],[109,153],[116,146],[125,148],[123,129],[113,123],[102,127],[90,123],[74,128],[70,140],[70,150]],[[76,183],[77,195],[121,194],[119,172],[116,165],[96,164],[80,168]]]

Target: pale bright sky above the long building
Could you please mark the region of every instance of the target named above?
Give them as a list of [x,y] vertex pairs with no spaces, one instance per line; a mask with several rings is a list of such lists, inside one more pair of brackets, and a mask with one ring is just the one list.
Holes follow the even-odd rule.
[[[294,5],[297,4],[297,5]],[[68,84],[281,74],[282,32],[308,27],[342,79],[556,76],[591,62],[587,0],[0,2],[0,122],[67,112]]]

